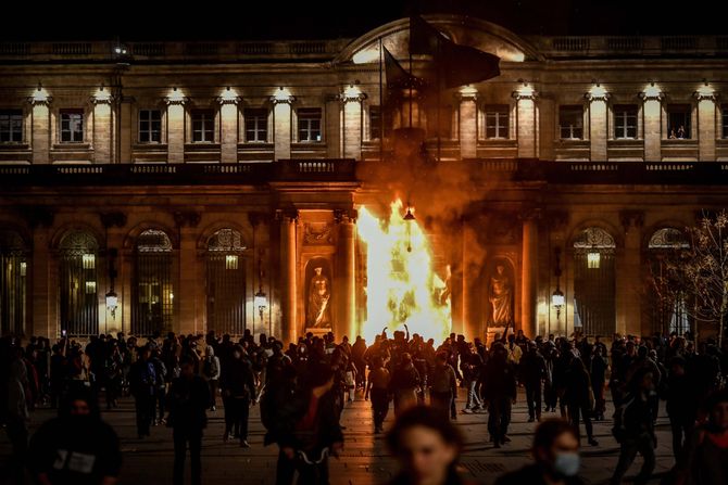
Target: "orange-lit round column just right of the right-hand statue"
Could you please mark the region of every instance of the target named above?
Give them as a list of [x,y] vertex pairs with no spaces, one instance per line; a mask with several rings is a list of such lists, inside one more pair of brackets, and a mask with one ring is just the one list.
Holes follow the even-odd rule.
[[535,339],[537,332],[538,216],[537,210],[522,215],[520,328],[529,339]]

